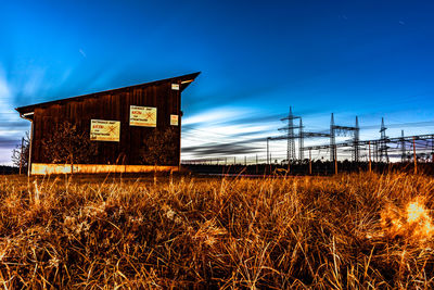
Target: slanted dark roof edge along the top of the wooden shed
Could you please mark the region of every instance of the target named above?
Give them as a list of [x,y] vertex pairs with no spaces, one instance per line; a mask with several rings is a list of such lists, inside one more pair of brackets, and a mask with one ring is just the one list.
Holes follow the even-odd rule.
[[[173,80],[182,80],[182,79],[186,79],[186,80],[193,79],[194,80],[200,74],[201,74],[201,72],[197,72],[197,73],[193,73],[193,74],[176,76],[176,77],[170,77],[170,78],[165,78],[165,79],[159,79],[159,80],[153,80],[153,81],[143,83],[143,84],[133,85],[133,86],[127,86],[127,87],[122,87],[122,88],[116,88],[116,89],[97,91],[97,92],[92,92],[92,93],[87,93],[87,94],[81,94],[81,96],[76,96],[76,97],[69,97],[69,98],[65,98],[65,99],[60,99],[60,100],[54,100],[54,101],[49,101],[49,102],[42,102],[42,103],[37,103],[37,104],[29,104],[29,105],[25,105],[25,106],[15,108],[15,110],[20,114],[25,114],[25,113],[33,112],[35,110],[35,108],[38,108],[38,106],[44,106],[44,105],[50,105],[50,104],[54,104],[54,103],[63,103],[63,102],[68,102],[68,101],[86,99],[86,98],[94,98],[100,93],[107,93],[107,92],[112,92],[112,91],[124,90],[124,89],[129,89],[129,88],[135,88],[135,87],[146,87],[146,86],[157,85],[159,83],[166,83],[166,81],[173,81]],[[187,88],[190,84],[191,83],[183,84],[182,87],[181,87],[181,91],[184,88]]]

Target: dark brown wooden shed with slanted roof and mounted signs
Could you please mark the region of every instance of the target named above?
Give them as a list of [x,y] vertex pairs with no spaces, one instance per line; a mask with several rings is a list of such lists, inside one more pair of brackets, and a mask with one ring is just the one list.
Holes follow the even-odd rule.
[[[200,73],[17,108],[31,122],[29,175],[177,171],[180,165],[181,92]],[[69,124],[95,148],[86,163],[53,160],[49,140]],[[144,143],[167,130],[170,159],[146,162]],[[163,138],[163,137],[162,137]],[[166,136],[167,138],[167,136]],[[51,140],[52,143],[53,140]],[[55,141],[55,140],[54,140]],[[150,148],[150,147],[149,147]],[[148,149],[149,149],[148,148]],[[176,154],[174,154],[176,152]]]

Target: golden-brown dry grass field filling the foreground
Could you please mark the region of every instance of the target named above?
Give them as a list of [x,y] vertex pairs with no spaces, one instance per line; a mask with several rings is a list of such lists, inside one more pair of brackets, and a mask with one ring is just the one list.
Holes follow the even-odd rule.
[[0,286],[434,287],[434,179],[0,177]]

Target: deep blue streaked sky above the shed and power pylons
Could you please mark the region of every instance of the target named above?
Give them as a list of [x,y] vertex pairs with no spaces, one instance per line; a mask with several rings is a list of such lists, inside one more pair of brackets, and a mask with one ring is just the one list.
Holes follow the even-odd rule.
[[432,1],[2,1],[0,164],[29,128],[16,106],[197,71],[182,96],[184,160],[265,157],[258,140],[280,135],[290,105],[306,130],[328,129],[334,112],[342,125],[358,115],[362,139],[380,137],[382,116],[432,133],[433,12]]

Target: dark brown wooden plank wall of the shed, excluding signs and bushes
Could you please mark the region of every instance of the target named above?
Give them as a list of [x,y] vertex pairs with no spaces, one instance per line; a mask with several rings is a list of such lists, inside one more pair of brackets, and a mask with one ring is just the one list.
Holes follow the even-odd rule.
[[[43,138],[48,138],[59,123],[67,121],[76,124],[77,128],[90,135],[91,119],[120,121],[120,141],[98,143],[98,155],[94,164],[142,164],[139,153],[143,140],[153,133],[155,128],[129,126],[130,105],[157,108],[157,128],[164,131],[170,127],[170,114],[179,115],[179,126],[171,126],[177,130],[178,146],[174,148],[179,152],[181,129],[181,100],[179,90],[171,89],[170,81],[161,83],[145,87],[129,87],[120,90],[98,92],[89,97],[76,100],[66,100],[62,103],[53,103],[35,109],[34,115],[34,143],[31,152],[33,163],[50,163],[49,156],[44,155],[42,148]],[[125,161],[122,156],[125,154]],[[170,164],[178,165],[178,157]],[[120,156],[120,157],[119,157]]]

